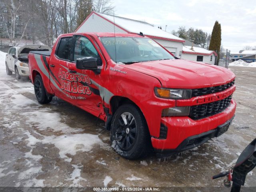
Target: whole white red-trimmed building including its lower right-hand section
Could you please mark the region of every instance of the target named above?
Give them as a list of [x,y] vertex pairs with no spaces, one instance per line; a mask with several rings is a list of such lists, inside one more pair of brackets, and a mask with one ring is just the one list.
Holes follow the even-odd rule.
[[[154,39],[164,46],[168,51],[178,58],[184,58],[193,61],[202,61],[214,64],[216,54],[204,48],[196,48],[196,51],[190,50],[184,45],[185,40],[162,29],[159,29],[147,22],[132,20],[109,14],[92,12],[75,32],[116,32],[139,34],[142,32],[145,36]],[[195,47],[194,47],[195,48]]]

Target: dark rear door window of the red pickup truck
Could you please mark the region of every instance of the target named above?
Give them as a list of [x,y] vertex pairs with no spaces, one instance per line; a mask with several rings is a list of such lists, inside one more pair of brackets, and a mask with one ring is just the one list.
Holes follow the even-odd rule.
[[70,60],[70,50],[72,47],[72,37],[60,39],[60,44],[56,52],[56,56],[60,59]]

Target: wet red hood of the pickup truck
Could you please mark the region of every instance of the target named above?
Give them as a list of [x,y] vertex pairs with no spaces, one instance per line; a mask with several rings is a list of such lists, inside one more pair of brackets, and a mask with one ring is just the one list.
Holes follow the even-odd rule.
[[226,84],[235,78],[230,70],[183,59],[157,60],[123,65],[157,78],[165,88],[195,89]]

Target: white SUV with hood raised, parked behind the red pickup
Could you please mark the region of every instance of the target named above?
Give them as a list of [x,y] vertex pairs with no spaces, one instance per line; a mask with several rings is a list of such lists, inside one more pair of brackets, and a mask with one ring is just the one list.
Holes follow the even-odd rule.
[[16,79],[20,76],[28,76],[28,53],[30,51],[50,51],[51,48],[42,45],[28,45],[22,47],[11,47],[5,57],[5,66],[7,75],[15,73]]

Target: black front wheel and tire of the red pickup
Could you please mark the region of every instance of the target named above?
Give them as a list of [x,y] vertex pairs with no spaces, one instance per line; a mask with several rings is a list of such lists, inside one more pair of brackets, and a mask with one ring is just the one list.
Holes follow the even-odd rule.
[[111,146],[124,158],[134,160],[150,152],[150,134],[140,109],[133,104],[124,104],[114,113],[111,130]]

